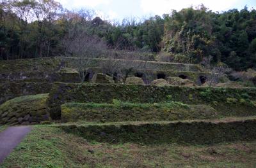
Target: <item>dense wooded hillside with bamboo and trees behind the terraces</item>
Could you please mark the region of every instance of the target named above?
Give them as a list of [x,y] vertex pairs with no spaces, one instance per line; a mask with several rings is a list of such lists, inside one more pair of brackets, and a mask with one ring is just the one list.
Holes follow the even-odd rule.
[[256,11],[246,7],[221,13],[204,5],[170,9],[122,24],[95,16],[92,10],[65,10],[53,0],[1,1],[0,60],[65,54],[63,41],[83,31],[88,41],[100,41],[102,50],[161,52],[188,63],[212,57],[212,64],[239,71],[256,65]]

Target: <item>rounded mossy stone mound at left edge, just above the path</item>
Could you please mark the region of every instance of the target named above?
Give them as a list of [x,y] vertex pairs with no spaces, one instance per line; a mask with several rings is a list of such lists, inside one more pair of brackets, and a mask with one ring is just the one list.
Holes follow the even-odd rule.
[[4,102],[0,105],[0,124],[29,125],[51,120],[48,95],[25,95]]

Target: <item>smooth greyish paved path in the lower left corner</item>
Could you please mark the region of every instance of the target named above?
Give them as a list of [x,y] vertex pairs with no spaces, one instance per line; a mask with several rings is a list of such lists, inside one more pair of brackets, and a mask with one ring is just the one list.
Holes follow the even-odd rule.
[[0,132],[0,164],[30,131],[31,127],[22,126],[9,127]]

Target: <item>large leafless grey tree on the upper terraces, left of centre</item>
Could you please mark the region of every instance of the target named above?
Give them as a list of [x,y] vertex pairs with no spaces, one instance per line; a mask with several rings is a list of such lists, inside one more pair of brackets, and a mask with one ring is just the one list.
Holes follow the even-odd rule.
[[88,68],[92,67],[92,60],[100,57],[107,49],[106,44],[99,37],[88,34],[87,24],[86,20],[83,22],[70,20],[67,34],[62,41],[65,56],[75,57],[76,69],[79,71],[81,82],[84,81]]

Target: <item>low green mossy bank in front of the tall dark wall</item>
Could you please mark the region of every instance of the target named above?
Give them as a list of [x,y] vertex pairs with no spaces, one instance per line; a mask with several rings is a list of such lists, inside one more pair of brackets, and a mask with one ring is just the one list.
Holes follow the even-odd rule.
[[125,122],[125,121],[172,121],[218,118],[211,106],[188,105],[181,102],[130,103],[114,100],[112,104],[76,103],[61,106],[63,122]]

